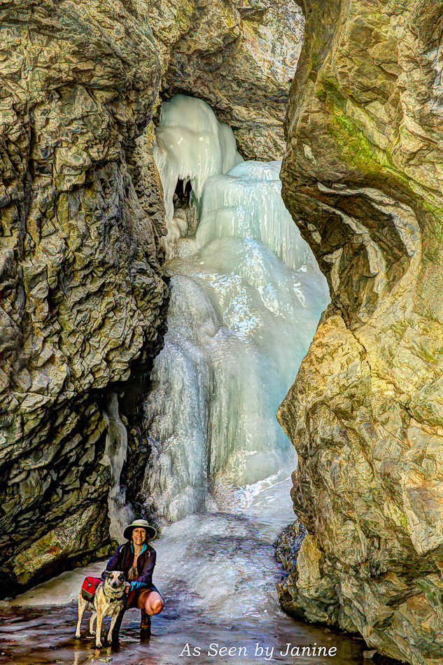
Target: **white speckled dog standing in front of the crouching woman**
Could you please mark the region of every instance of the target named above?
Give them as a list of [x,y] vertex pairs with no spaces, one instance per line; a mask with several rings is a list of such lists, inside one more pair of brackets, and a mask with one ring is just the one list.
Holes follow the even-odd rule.
[[118,615],[123,612],[126,607],[127,594],[125,593],[125,575],[120,570],[106,571],[103,582],[100,582],[95,591],[92,601],[87,601],[83,598],[81,589],[78,594],[78,622],[76,630],[76,638],[80,637],[80,624],[85,614],[85,610],[92,612],[92,617],[89,622],[90,635],[94,635],[92,626],[97,617],[97,626],[95,631],[95,646],[100,648],[101,644],[101,623],[104,617],[111,618],[111,626],[109,626],[107,640],[111,643],[113,637],[113,629],[115,622],[117,622]]

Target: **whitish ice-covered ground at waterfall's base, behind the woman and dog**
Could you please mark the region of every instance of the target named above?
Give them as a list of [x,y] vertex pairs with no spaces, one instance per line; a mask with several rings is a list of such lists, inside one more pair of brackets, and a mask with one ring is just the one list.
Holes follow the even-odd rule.
[[[243,488],[216,489],[212,510],[188,515],[162,529],[155,584],[181,606],[222,618],[260,617],[275,597],[276,562],[270,547],[293,521],[290,479],[283,473]],[[55,605],[77,600],[83,577],[101,574],[106,561],[62,573],[39,584],[12,604]],[[235,591],[234,591],[235,590]],[[248,610],[246,611],[246,608]],[[275,608],[274,608],[275,609]]]

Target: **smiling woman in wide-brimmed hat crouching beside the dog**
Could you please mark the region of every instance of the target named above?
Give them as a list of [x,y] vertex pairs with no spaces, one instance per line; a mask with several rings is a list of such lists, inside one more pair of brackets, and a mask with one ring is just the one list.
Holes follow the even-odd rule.
[[[146,519],[135,519],[123,531],[123,537],[128,542],[115,550],[106,566],[106,570],[122,570],[125,573],[128,580],[125,584],[128,594],[126,609],[141,609],[141,631],[149,631],[150,617],[164,608],[163,598],[153,584],[156,554],[149,540],[155,535],[155,528]],[[116,627],[120,627],[120,623],[121,618]]]

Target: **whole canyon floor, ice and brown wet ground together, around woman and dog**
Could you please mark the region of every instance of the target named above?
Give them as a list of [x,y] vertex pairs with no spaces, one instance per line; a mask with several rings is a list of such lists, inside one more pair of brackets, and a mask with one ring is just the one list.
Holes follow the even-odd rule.
[[[94,648],[87,636],[89,613],[82,638],[74,638],[78,589],[85,575],[103,570],[106,562],[99,561],[2,603],[0,665],[367,663],[360,638],[295,622],[281,611],[275,587],[281,568],[272,541],[293,520],[290,485],[276,475],[241,489],[218,486],[212,512],[163,529],[154,542],[154,581],[166,606],[153,617],[150,640],[141,640],[139,610],[125,614],[118,650]],[[286,654],[288,644],[293,656]],[[313,656],[320,646],[331,655]],[[302,655],[302,647],[311,655],[306,649]]]

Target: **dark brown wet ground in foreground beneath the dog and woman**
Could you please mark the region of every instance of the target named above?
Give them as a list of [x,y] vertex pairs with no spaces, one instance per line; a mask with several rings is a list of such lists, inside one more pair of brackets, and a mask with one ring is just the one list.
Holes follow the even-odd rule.
[[[360,638],[295,622],[283,612],[281,617],[272,619],[211,622],[206,617],[187,615],[183,618],[177,610],[174,601],[171,603],[167,598],[167,608],[162,615],[153,618],[153,631],[148,640],[140,637],[139,610],[129,610],[120,631],[120,647],[105,646],[96,650],[92,638],[87,635],[89,615],[83,620],[82,638],[74,638],[77,621],[74,603],[62,608],[1,608],[0,664],[248,665],[274,662],[363,665],[370,662],[363,659],[365,643]],[[106,625],[107,622],[108,619]],[[326,657],[309,657],[305,649],[302,656],[302,647],[309,645],[311,654],[314,647],[319,646],[331,654],[334,654],[331,647],[336,647],[337,652]],[[299,656],[294,648],[297,646],[300,647]],[[290,650],[293,650],[292,657]]]

